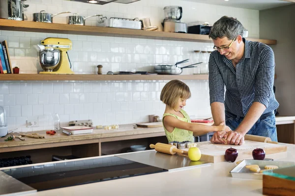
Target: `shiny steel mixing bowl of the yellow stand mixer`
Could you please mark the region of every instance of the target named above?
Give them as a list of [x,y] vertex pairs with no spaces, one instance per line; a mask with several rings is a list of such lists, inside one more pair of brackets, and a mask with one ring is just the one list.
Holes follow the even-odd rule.
[[58,67],[60,51],[58,49],[44,49],[39,51],[39,62],[45,72],[52,72]]

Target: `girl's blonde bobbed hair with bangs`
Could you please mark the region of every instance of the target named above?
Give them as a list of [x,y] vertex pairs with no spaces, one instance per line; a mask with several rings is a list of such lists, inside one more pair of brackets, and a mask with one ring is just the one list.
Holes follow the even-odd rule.
[[174,108],[179,98],[191,97],[189,87],[180,80],[171,80],[162,89],[160,100],[166,105]]

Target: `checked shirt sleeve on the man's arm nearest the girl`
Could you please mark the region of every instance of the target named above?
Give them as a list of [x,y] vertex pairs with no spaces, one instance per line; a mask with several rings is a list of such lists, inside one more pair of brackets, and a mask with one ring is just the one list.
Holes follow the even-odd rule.
[[210,54],[208,69],[210,105],[213,102],[224,103],[224,81],[214,59],[214,52]]

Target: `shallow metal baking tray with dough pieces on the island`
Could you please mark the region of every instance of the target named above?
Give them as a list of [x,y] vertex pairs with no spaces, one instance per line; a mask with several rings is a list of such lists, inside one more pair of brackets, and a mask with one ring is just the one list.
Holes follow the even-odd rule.
[[275,165],[275,166],[278,166],[279,168],[284,168],[284,167],[294,166],[295,162],[244,159],[230,172],[232,174],[232,177],[262,180],[263,173],[252,172],[249,169],[245,168],[246,165],[258,165],[261,170],[265,170],[264,167],[266,165]]

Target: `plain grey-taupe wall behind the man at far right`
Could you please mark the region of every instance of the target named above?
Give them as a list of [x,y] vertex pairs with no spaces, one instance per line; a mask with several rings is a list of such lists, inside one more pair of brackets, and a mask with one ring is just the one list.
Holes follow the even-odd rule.
[[277,78],[275,97],[280,103],[278,112],[284,116],[295,115],[295,4],[260,12],[260,35],[266,39],[276,39],[271,46],[275,57]]

